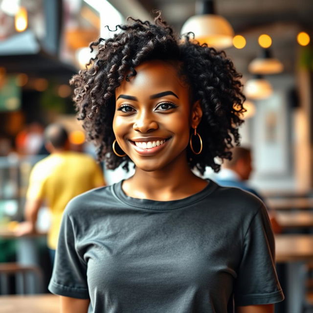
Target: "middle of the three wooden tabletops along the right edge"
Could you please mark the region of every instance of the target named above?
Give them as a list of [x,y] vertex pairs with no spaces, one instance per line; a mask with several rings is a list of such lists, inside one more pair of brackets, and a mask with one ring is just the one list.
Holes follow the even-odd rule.
[[275,217],[283,228],[313,227],[311,211],[278,211]]

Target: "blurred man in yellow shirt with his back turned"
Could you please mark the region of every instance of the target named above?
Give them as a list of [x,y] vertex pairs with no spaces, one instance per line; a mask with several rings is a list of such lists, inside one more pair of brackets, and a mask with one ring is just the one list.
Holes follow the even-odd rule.
[[51,124],[45,129],[45,147],[51,154],[31,171],[25,222],[20,223],[15,232],[22,236],[35,231],[38,211],[45,201],[51,213],[47,246],[53,262],[67,202],[92,188],[104,186],[105,181],[99,165],[91,156],[69,150],[68,134],[63,126]]

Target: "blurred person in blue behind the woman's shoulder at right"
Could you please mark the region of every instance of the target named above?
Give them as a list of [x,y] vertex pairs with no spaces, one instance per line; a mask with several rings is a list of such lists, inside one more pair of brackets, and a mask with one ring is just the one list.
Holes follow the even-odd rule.
[[246,190],[260,198],[268,209],[268,216],[275,233],[282,231],[275,214],[266,203],[264,197],[248,184],[248,179],[253,171],[251,149],[248,147],[235,147],[232,150],[232,159],[224,159],[221,171],[215,179],[217,183],[227,187],[237,187]]

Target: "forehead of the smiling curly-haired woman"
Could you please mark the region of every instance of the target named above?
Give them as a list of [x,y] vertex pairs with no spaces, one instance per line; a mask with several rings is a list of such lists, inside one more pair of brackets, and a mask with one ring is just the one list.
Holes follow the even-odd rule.
[[178,74],[178,66],[165,61],[147,61],[135,67],[136,75],[130,81],[121,82],[115,89],[115,96],[119,94],[144,95],[155,94],[164,90],[175,93],[188,93],[186,84]]

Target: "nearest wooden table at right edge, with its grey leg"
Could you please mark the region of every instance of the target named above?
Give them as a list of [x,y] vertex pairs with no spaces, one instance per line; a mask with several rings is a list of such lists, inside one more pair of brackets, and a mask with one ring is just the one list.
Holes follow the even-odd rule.
[[276,235],[275,246],[276,262],[287,265],[286,313],[301,313],[305,296],[305,263],[313,261],[313,235]]

